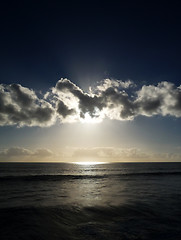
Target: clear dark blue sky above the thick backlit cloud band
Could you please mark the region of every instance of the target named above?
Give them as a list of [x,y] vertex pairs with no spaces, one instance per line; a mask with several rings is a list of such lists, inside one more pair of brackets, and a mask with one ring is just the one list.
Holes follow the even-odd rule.
[[178,84],[178,3],[7,1],[0,16],[1,82],[44,90],[60,77],[83,87],[105,77]]

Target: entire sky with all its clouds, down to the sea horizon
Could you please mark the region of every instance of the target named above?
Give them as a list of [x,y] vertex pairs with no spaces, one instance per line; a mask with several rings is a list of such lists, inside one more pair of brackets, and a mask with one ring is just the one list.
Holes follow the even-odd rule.
[[181,161],[179,1],[6,1],[0,161]]

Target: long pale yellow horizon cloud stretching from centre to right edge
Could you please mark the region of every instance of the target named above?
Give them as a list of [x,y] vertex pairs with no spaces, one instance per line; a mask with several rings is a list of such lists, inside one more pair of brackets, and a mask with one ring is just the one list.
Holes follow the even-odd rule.
[[[68,156],[78,161],[104,160],[104,161],[136,161],[136,162],[158,162],[158,161],[180,161],[181,153],[155,153],[147,152],[138,148],[121,147],[92,147],[92,148],[68,148]],[[66,155],[66,154],[65,154]]]

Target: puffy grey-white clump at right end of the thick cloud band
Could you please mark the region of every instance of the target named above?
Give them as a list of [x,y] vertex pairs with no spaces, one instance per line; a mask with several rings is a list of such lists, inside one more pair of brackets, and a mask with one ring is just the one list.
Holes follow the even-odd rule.
[[157,86],[143,86],[135,101],[137,115],[170,115],[181,117],[181,88],[161,82]]

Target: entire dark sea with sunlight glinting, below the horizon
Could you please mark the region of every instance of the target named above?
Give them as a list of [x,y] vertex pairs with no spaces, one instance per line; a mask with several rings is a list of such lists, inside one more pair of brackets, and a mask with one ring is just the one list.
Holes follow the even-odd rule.
[[181,239],[181,163],[0,164],[0,239]]

